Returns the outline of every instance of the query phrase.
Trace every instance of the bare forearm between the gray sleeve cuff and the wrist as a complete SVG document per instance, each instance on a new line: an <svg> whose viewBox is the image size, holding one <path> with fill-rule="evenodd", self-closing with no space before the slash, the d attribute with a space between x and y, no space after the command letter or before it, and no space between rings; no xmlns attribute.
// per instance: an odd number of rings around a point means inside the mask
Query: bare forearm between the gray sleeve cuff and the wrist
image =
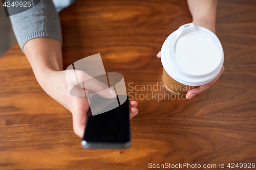
<svg viewBox="0 0 256 170"><path fill-rule="evenodd" d="M45 80L53 71L63 69L61 44L55 39L32 39L24 45L24 53L42 88L45 86Z"/></svg>

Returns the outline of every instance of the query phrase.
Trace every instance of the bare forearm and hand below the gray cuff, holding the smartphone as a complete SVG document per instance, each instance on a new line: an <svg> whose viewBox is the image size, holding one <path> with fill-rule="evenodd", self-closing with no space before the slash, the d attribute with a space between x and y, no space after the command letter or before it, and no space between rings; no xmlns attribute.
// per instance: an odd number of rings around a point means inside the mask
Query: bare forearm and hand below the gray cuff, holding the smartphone
<svg viewBox="0 0 256 170"><path fill-rule="evenodd" d="M62 52L61 44L52 38L35 38L29 40L24 45L24 53L28 58L34 71L36 80L54 100L67 108L73 115L73 130L79 137L83 136L86 126L86 118L89 110L89 102L85 96L72 96L68 89L66 71L62 67ZM76 71L77 76L88 76L83 71ZM82 79L87 80L87 79ZM76 84L77 82L74 82ZM101 89L108 89L105 84L95 81L91 85L84 83L85 89L80 87L80 90L96 92L103 98L114 98L115 92ZM110 90L110 89L109 89ZM113 95L114 94L114 95ZM139 111L136 108L136 101L130 102L130 117L134 117Z"/></svg>

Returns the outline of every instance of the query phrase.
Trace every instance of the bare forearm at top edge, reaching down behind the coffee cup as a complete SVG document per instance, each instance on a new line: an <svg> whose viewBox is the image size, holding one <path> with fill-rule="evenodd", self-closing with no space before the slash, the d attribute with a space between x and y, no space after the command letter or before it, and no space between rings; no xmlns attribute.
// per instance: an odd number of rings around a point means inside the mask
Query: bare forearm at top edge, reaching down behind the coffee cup
<svg viewBox="0 0 256 170"><path fill-rule="evenodd" d="M187 0L193 23L215 33L218 0Z"/></svg>

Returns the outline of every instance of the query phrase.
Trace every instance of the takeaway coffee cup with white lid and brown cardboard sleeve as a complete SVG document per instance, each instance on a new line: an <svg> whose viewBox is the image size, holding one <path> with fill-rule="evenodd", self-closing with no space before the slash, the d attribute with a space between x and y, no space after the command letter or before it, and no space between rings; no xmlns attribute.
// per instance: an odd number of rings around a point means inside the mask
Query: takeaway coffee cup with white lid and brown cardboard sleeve
<svg viewBox="0 0 256 170"><path fill-rule="evenodd" d="M188 23L164 41L161 62L165 87L182 94L214 80L221 71L224 52L214 33Z"/></svg>

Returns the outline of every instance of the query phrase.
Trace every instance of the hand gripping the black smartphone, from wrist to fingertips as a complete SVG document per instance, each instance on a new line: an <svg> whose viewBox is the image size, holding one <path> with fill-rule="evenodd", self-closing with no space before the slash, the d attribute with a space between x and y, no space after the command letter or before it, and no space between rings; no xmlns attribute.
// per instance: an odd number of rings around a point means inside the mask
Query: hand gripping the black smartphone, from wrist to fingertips
<svg viewBox="0 0 256 170"><path fill-rule="evenodd" d="M87 113L89 110L89 101L87 95L85 96L72 96L68 89L66 71L51 71L44 82L40 82L41 87L58 103L67 108L73 115L73 130L74 133L81 137L84 133L84 128L86 126ZM68 70L73 71L73 70ZM88 79L88 75L83 72L76 70L76 75L79 80ZM75 74L74 74L75 76ZM70 82L69 82L70 83ZM77 82L73 82L74 85ZM90 85L84 85L80 87L81 91L87 94L88 90L96 92L98 95L112 99L116 97L115 91L106 86L104 83L97 81L90 82ZM138 109L136 108L138 103L136 101L130 102L130 117L134 117L138 114Z"/></svg>

